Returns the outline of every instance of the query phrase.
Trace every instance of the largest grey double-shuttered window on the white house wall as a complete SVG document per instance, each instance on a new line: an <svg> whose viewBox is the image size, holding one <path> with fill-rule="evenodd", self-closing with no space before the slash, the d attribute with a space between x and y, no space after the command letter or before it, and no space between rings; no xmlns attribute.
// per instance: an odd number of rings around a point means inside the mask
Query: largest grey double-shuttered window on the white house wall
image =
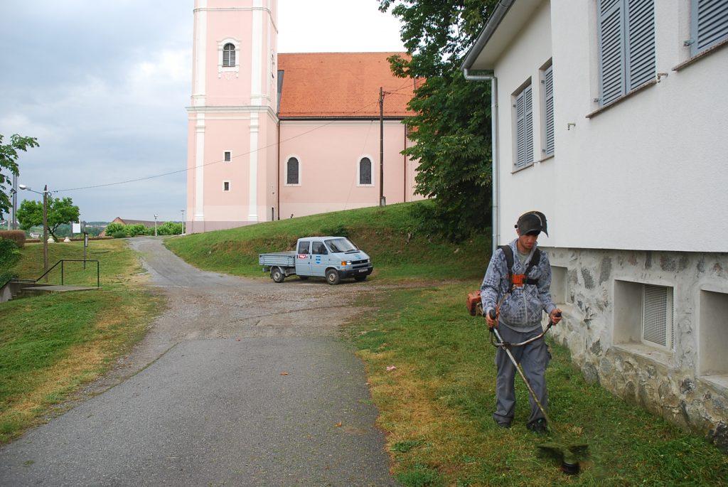
<svg viewBox="0 0 728 487"><path fill-rule="evenodd" d="M599 103L604 106L654 79L654 0L600 0Z"/></svg>

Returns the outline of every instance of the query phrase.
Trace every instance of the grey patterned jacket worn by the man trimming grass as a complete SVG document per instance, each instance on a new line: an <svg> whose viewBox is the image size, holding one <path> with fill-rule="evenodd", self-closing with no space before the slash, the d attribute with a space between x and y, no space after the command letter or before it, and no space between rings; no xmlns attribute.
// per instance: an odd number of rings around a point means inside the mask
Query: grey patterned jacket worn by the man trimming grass
<svg viewBox="0 0 728 487"><path fill-rule="evenodd" d="M526 262L521 264L516 242L518 239L508 244L513 249L513 274L523 274L531 261L533 251L531 250ZM507 294L509 282L505 253L497 249L491 257L483 284L480 285L480 301L483 303L483 313L487 313L496 309L496 305L506 296L500 305L499 325L506 325L520 332L537 330L541 328L542 312L548 314L556 308L551 301L551 264L547 253L543 250L539 253L539 263L527 276L529 279L539 280L538 285L526 284L522 288L514 288L510 294Z"/></svg>

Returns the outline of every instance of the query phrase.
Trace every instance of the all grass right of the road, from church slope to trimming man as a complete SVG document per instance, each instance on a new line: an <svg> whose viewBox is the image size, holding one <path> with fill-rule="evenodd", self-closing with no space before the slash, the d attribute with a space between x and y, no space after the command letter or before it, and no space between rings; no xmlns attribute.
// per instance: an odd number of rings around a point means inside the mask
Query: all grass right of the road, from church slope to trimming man
<svg viewBox="0 0 728 487"><path fill-rule="evenodd" d="M263 223L170 239L167 245L203 269L261 276L259 252L289 250L297 237L310 234L348 234L373 258L372 283L408 283L385 291L367 282L355 285L361 304L378 311L344 330L366 365L392 470L404 486L728 482L728 456L702 437L586 384L569 351L553 343L547 380L552 427L559 436L550 439L588 444L581 475L564 475L559 459L538 450L542 438L523 424L529 406L520 378L517 421L512 429L496 428L491 420L494 347L482 318L470 317L464 306L488 261L488 232L464 245L430 242L413 233L409 207Z"/></svg>

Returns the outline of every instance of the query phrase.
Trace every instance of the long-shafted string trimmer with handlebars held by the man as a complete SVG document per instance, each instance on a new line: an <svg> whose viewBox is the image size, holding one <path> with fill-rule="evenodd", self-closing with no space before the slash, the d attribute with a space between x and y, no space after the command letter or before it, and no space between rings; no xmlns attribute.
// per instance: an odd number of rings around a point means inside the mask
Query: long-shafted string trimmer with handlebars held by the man
<svg viewBox="0 0 728 487"><path fill-rule="evenodd" d="M496 312L493 309L490 310L490 317L493 320L496 319ZM523 373L523 369L521 369L521 364L519 364L515 360L515 357L513 357L513 353L511 353L510 351L510 349L513 347L523 347L524 345L530 344L533 341L537 341L539 338L543 338L543 336L547 333L548 330L551 329L552 326L553 321L549 320L548 325L546 325L546 328L539 335L534 336L533 338L529 338L526 341L521 341L521 343L512 344L507 341L503 341L503 338L501 338L496 325L491 328L491 344L493 344L494 347L501 347L506 352L506 354L510 358L510 361L513 362L513 365L518 371L518 375L521 376L521 379L523 379L523 382L526 384L526 388L529 389L529 394L531 395L531 397L534 398L534 401L543 413L547 424L551 425L552 431L554 432L552 440L542 445L539 445L539 448L561 459L561 470L563 470L563 472L571 475L576 475L577 473L579 473L579 460L585 459L588 446L585 443L567 444L558 440L558 438L561 438L561 435L559 435L558 432L555 432L555 430L553 429L553 422L549 418L548 413L546 412L546 408L544 408L544 406L541 404L541 401L539 401L539 398L536 396L536 392L534 392L534 389L531 388L529 379L526 379L526 375ZM494 336L496 337L497 342L493 341Z"/></svg>

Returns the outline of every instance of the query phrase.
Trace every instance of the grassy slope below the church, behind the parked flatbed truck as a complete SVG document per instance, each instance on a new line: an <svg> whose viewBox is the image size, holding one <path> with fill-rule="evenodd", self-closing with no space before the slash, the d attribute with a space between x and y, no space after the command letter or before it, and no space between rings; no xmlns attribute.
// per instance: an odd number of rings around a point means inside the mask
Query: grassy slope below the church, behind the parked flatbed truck
<svg viewBox="0 0 728 487"><path fill-rule="evenodd" d="M369 207L258 223L237 229L173 237L170 250L200 269L267 277L258 253L296 248L296 239L315 235L349 237L372 258L372 278L442 280L482 276L490 240L486 234L451 245L414 229L412 210L428 202Z"/></svg>

